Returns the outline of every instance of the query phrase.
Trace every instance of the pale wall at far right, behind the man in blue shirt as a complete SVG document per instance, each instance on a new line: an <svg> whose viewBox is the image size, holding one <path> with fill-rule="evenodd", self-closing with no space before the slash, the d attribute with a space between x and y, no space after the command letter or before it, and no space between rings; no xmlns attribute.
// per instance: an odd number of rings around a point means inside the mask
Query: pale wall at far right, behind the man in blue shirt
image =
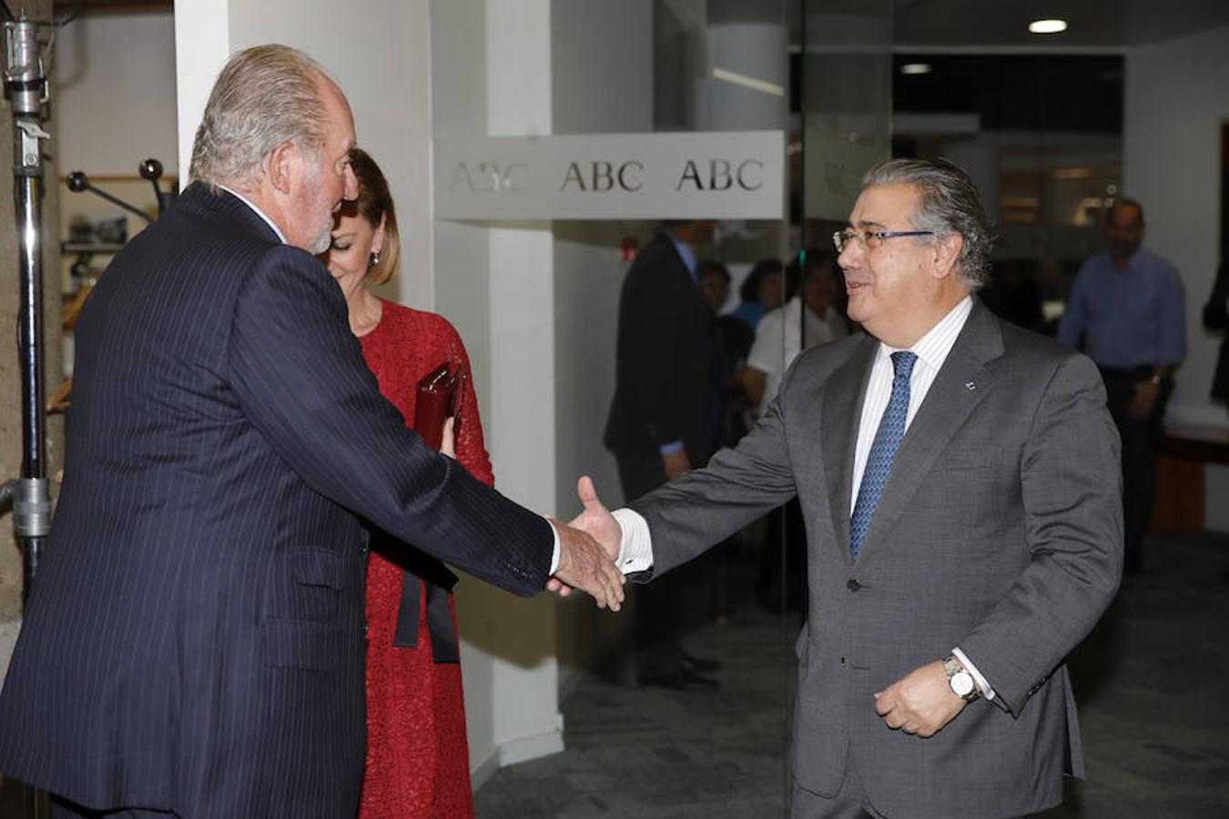
<svg viewBox="0 0 1229 819"><path fill-rule="evenodd" d="M1200 319L1220 242L1220 128L1229 120L1229 27L1127 52L1123 189L1144 206L1144 244L1186 287L1187 355L1170 420L1229 425L1208 398L1215 339Z"/></svg>

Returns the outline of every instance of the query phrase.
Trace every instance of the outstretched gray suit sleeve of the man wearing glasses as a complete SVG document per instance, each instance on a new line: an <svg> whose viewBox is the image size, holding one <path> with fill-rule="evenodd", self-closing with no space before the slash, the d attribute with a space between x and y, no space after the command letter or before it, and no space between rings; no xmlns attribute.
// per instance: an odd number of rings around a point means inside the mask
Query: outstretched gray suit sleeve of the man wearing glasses
<svg viewBox="0 0 1229 819"><path fill-rule="evenodd" d="M651 580L687 562L795 494L778 395L737 447L629 505L653 538L653 570L633 580Z"/></svg>

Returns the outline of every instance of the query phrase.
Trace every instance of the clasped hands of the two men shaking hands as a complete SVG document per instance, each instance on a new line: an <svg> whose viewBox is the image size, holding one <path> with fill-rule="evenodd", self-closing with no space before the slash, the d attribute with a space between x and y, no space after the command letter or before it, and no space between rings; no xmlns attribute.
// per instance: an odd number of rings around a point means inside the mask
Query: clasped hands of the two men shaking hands
<svg viewBox="0 0 1229 819"><path fill-rule="evenodd" d="M589 475L576 483L576 494L584 506L580 514L569 523L551 521L559 533L559 565L546 587L559 597L579 588L591 594L599 608L618 611L626 578L614 560L619 554L623 529L610 510L602 506Z"/></svg>

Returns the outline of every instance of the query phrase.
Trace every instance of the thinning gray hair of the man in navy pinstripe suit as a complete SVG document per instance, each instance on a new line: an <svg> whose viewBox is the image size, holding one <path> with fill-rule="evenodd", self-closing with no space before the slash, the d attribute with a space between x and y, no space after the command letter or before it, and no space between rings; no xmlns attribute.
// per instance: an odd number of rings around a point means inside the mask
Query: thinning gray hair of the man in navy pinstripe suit
<svg viewBox="0 0 1229 819"><path fill-rule="evenodd" d="M326 118L320 82L326 76L315 60L289 45L232 54L205 104L189 176L210 189L220 183L246 187L283 142L310 142L318 151Z"/></svg>

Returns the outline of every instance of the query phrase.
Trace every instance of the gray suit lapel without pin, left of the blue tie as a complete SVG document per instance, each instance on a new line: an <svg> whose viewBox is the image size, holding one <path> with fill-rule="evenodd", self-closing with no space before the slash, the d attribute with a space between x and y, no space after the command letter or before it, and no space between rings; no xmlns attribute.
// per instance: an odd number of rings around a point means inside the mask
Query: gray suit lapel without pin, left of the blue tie
<svg viewBox="0 0 1229 819"><path fill-rule="evenodd" d="M823 422L820 441L823 447L823 470L832 507L832 528L837 548L849 556L849 508L853 502L853 456L858 446L858 424L862 402L875 362L879 341L865 336L844 366L832 373L823 390Z"/></svg>

